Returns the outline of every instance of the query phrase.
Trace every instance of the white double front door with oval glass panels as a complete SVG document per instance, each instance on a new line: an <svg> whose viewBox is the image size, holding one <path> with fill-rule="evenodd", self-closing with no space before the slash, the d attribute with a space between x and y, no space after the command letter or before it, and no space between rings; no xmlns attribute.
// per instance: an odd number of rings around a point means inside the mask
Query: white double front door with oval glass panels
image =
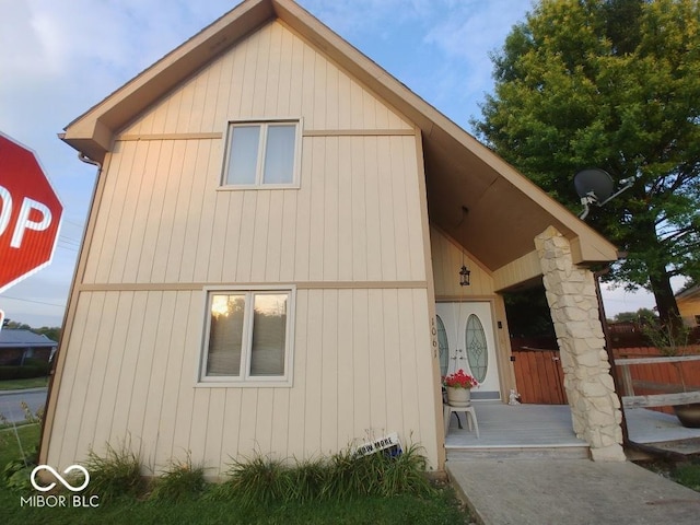
<svg viewBox="0 0 700 525"><path fill-rule="evenodd" d="M438 303L435 312L441 374L463 369L480 383L472 399L500 399L491 303Z"/></svg>

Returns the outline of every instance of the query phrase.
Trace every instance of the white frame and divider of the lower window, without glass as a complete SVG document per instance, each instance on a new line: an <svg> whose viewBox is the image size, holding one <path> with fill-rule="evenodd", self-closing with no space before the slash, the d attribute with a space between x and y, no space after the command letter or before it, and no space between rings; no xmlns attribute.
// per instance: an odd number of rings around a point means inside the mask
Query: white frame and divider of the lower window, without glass
<svg viewBox="0 0 700 525"><path fill-rule="evenodd" d="M296 311L296 287L294 284L269 284L269 285L217 285L205 287L205 330L202 334L202 342L199 350L199 365L197 366L196 387L292 387L293 386L293 365L294 365L294 319ZM273 376L250 376L248 362L250 359L249 348L241 353L241 368L246 370L245 375L240 376L207 376L207 358L209 355L209 336L211 331L211 296L215 293L233 292L233 293L255 293L255 292L280 292L289 293L289 303L287 310L287 331L284 340L284 375ZM246 302L246 314L248 304ZM253 316L244 317L246 334L250 334ZM246 340L248 338L246 337Z"/></svg>

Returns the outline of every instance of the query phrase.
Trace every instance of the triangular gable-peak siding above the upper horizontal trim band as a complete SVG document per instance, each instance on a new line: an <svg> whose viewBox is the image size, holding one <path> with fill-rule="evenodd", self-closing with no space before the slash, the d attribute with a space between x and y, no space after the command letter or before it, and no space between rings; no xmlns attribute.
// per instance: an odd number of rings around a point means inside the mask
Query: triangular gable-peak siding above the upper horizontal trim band
<svg viewBox="0 0 700 525"><path fill-rule="evenodd" d="M173 91L124 135L223 132L229 119L303 115L308 129L412 127L338 66L271 23Z"/></svg>

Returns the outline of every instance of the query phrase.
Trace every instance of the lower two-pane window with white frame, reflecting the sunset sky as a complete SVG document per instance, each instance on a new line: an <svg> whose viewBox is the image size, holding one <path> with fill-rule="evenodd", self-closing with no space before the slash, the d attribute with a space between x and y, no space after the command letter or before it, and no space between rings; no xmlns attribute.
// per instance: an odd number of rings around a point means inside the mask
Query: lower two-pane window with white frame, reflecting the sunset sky
<svg viewBox="0 0 700 525"><path fill-rule="evenodd" d="M291 386L294 289L209 290L200 384Z"/></svg>

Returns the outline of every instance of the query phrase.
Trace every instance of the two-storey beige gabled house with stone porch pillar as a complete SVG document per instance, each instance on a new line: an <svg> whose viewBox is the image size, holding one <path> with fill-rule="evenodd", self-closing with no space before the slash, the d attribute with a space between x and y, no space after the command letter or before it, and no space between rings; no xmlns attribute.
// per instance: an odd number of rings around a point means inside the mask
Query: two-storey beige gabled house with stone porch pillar
<svg viewBox="0 0 700 525"><path fill-rule="evenodd" d="M398 432L443 469L441 364L508 400L501 293L542 279L574 430L623 459L587 268L616 248L291 0L243 2L62 139L101 168L42 463L129 440L217 474Z"/></svg>

